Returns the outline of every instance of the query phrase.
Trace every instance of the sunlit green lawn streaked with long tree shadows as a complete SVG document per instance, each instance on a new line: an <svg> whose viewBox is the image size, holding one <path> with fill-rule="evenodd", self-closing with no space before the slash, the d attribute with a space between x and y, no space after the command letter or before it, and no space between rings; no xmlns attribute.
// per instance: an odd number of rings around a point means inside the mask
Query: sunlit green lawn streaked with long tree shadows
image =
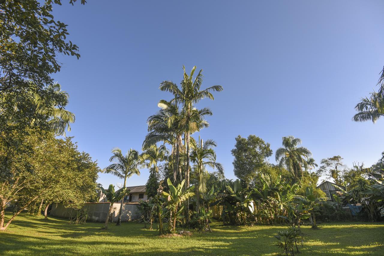
<svg viewBox="0 0 384 256"><path fill-rule="evenodd" d="M159 237L142 223L71 225L67 220L23 214L0 231L0 255L22 254L150 254L150 255L278 255L276 230L284 226L222 226L213 233ZM384 223L332 223L319 230L303 226L300 255L384 255Z"/></svg>

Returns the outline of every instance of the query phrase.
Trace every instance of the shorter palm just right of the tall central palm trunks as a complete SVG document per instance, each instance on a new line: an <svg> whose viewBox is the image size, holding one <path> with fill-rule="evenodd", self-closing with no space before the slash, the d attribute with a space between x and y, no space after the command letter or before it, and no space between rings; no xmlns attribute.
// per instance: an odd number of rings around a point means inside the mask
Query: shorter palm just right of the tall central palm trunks
<svg viewBox="0 0 384 256"><path fill-rule="evenodd" d="M221 174L224 173L222 164L216 162L216 152L213 149L217 146L214 140L200 140L196 143L194 139L191 140L190 160L195 164L197 168L197 180L198 185L196 187L196 211L200 211L200 193L204 194L207 192L207 174L205 167L217 169Z"/></svg>

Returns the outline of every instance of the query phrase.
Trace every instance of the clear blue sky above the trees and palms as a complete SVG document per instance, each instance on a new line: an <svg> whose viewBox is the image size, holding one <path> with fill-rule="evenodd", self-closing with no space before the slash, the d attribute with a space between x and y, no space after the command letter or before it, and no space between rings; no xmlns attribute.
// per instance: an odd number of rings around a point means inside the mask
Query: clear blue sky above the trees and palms
<svg viewBox="0 0 384 256"><path fill-rule="evenodd" d="M54 76L76 114L68 135L101 168L113 147L141 150L147 117L170 97L159 84L179 82L183 64L204 69L204 88L224 88L200 104L214 112L200 134L217 141L228 178L239 134L261 137L274 152L294 135L316 161L341 155L349 166L371 165L384 150L384 120L351 121L384 65L383 1L89 0L54 8L81 53L60 57ZM98 181L121 182L108 174Z"/></svg>

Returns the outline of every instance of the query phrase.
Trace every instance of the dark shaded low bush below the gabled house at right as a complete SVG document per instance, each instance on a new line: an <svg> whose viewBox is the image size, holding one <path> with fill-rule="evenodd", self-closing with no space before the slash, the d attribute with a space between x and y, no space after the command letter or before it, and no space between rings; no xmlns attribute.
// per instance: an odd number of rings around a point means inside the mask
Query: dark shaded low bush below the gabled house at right
<svg viewBox="0 0 384 256"><path fill-rule="evenodd" d="M351 215L349 213L328 203L314 206L314 214L316 220L323 222L351 220Z"/></svg>

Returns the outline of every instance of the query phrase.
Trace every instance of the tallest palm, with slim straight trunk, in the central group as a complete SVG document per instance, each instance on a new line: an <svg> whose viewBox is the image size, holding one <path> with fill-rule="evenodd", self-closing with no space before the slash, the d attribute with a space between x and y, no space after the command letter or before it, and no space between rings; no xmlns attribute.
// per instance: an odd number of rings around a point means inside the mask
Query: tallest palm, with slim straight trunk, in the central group
<svg viewBox="0 0 384 256"><path fill-rule="evenodd" d="M203 82L203 70L201 69L199 74L193 79L193 75L195 72L196 66L192 68L190 75L185 72L185 67L183 66L184 71L184 79L180 83L181 89L177 87L175 83L172 81L163 81L160 84L161 91L169 91L174 95L175 101L180 102L182 104L182 112L185 117L185 126L184 126L184 138L186 145L186 187L189 187L189 140L190 140L190 131L192 123L192 109L194 108L194 104L197 104L201 99L209 98L214 99L211 91L222 91L223 88L220 85L211 86L207 89L200 90L202 82Z"/></svg>

